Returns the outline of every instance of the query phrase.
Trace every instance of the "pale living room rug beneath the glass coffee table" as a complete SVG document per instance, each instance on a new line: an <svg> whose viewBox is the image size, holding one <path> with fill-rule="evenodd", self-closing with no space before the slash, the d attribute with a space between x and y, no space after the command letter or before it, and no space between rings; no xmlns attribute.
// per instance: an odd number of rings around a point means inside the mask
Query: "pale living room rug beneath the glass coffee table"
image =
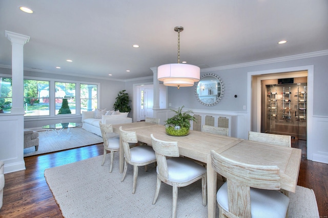
<svg viewBox="0 0 328 218"><path fill-rule="evenodd" d="M64 129L59 135L54 131L40 131L39 133L39 148L35 151L34 147L24 149L24 157L45 154L66 149L89 146L103 142L103 138L90 133L81 127L71 128L72 134L67 134L67 129Z"/></svg>

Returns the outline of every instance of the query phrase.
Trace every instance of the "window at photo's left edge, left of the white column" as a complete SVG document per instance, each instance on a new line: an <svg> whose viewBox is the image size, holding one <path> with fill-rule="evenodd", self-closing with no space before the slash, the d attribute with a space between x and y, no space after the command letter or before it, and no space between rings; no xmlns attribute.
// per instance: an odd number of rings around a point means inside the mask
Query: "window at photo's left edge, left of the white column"
<svg viewBox="0 0 328 218"><path fill-rule="evenodd" d="M0 77L0 112L10 112L12 100L11 78Z"/></svg>

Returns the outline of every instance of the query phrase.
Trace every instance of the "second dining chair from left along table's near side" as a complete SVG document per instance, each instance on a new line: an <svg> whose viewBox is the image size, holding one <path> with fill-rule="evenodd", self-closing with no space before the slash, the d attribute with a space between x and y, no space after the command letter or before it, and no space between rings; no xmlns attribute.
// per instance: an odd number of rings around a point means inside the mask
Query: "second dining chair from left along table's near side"
<svg viewBox="0 0 328 218"><path fill-rule="evenodd" d="M156 155L152 147L144 144L130 148L129 143L138 142L135 132L124 131L122 130L122 127L119 127L119 136L124 150L124 170L121 182L124 181L127 174L128 164L133 165L132 193L134 194L137 185L138 166L145 166L145 169L147 170L146 166L148 164L156 162Z"/></svg>

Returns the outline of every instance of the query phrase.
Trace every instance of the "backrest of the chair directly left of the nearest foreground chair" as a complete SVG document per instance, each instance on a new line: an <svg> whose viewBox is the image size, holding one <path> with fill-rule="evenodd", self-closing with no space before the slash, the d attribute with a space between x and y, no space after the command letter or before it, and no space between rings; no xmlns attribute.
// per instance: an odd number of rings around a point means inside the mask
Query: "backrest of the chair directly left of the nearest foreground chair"
<svg viewBox="0 0 328 218"><path fill-rule="evenodd" d="M162 178L168 179L169 172L166 157L179 157L178 142L162 141L156 139L153 134L151 134L150 136L152 138L152 146L156 154L159 175Z"/></svg>

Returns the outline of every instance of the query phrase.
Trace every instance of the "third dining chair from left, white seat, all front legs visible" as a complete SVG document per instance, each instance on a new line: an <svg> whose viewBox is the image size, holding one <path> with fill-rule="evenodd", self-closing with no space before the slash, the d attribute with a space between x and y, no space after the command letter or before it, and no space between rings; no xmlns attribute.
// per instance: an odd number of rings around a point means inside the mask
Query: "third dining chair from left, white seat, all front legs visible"
<svg viewBox="0 0 328 218"><path fill-rule="evenodd" d="M207 201L207 177L206 168L192 160L179 157L177 141L162 141L151 134L152 146L157 159L157 185L153 204L156 203L160 184L165 182L173 186L172 217L176 216L178 187L184 187L201 179L202 202L206 206ZM167 157L170 157L167 159ZM171 158L172 157L172 158Z"/></svg>

